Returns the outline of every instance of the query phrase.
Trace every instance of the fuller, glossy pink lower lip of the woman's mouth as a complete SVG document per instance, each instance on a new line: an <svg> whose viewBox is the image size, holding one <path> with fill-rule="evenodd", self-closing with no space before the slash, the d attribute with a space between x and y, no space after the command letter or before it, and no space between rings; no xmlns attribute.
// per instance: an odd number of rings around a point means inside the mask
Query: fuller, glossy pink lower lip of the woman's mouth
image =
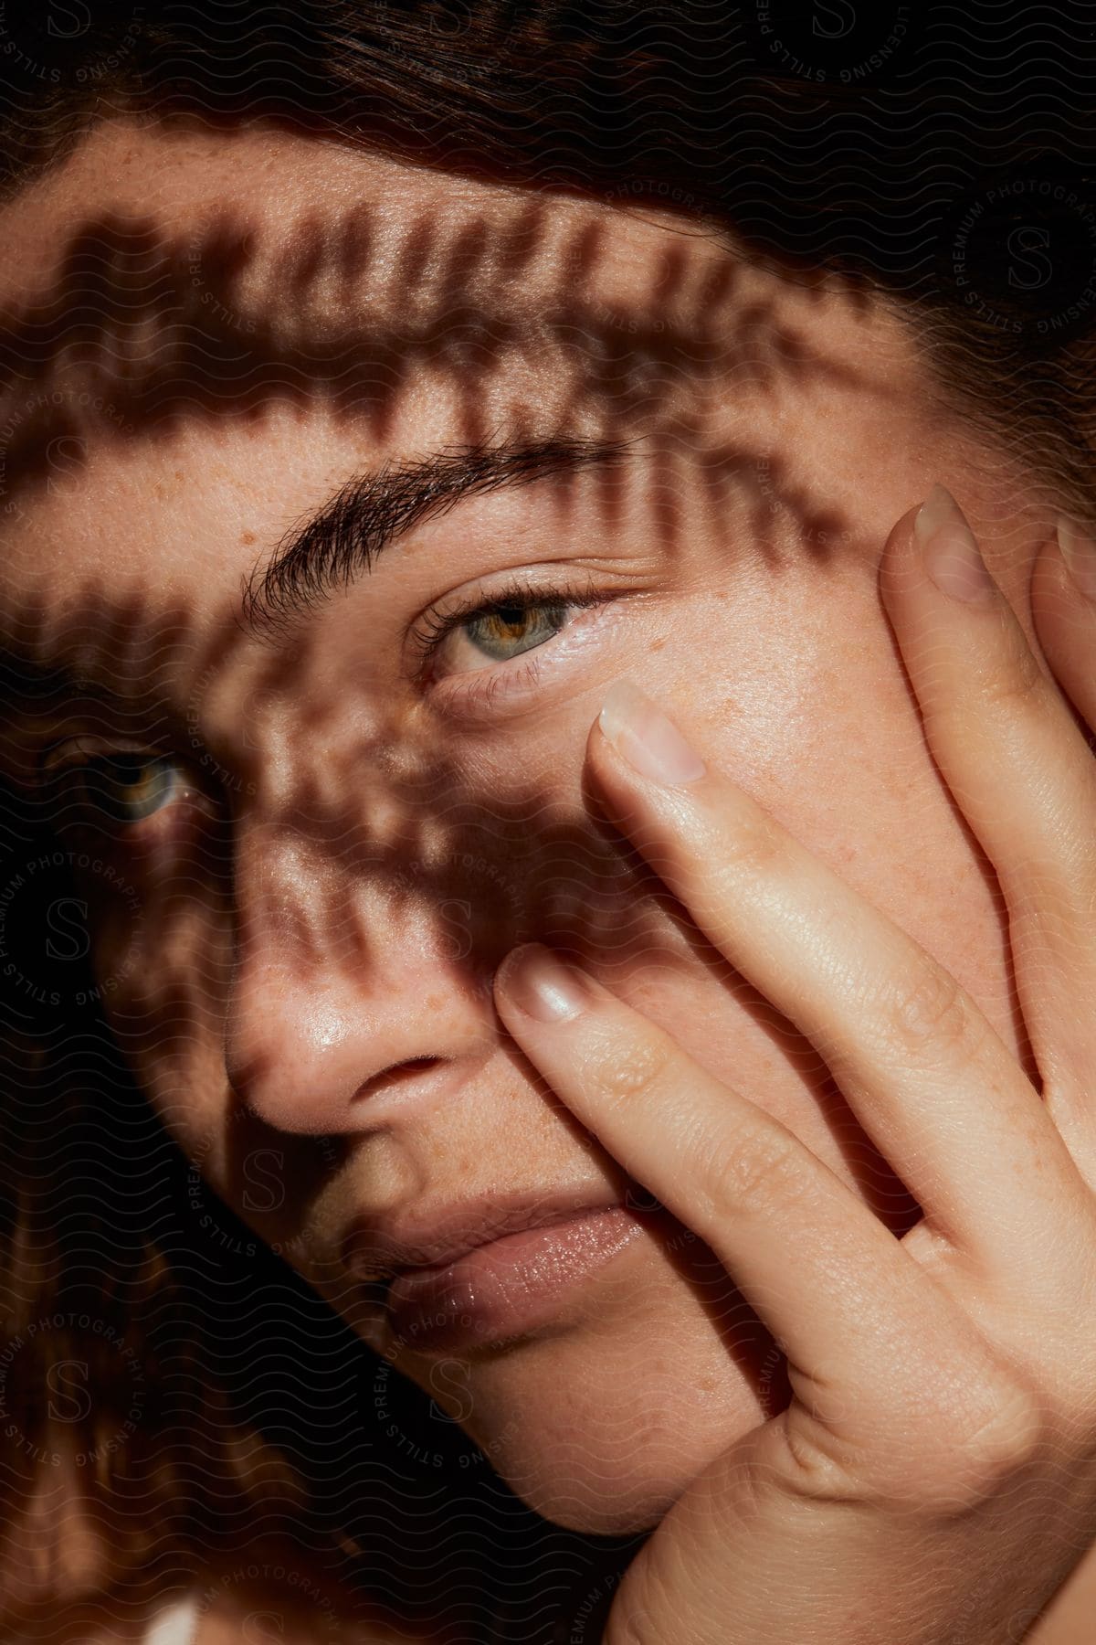
<svg viewBox="0 0 1096 1645"><path fill-rule="evenodd" d="M506 1234L449 1263L404 1268L388 1291L393 1336L424 1352L524 1336L552 1323L565 1293L639 1232L633 1211L611 1206Z"/></svg>

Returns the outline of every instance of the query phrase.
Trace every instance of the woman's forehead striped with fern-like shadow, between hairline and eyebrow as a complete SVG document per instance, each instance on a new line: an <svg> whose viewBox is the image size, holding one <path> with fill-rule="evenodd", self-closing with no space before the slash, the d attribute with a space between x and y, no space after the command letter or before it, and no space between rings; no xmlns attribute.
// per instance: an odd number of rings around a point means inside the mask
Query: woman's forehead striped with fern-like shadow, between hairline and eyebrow
<svg viewBox="0 0 1096 1645"><path fill-rule="evenodd" d="M355 467L524 426L733 470L815 365L896 382L884 316L697 224L284 130L104 123L3 217L0 599L223 604Z"/></svg>

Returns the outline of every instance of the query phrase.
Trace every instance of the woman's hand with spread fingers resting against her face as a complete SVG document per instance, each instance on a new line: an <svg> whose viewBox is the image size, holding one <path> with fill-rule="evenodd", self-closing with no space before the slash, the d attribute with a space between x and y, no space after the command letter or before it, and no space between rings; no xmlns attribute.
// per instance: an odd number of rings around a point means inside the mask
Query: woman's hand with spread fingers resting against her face
<svg viewBox="0 0 1096 1645"><path fill-rule="evenodd" d="M897 523L879 589L1007 905L1042 1091L946 969L615 689L588 740L603 804L827 1059L923 1217L896 1239L777 1119L537 944L500 969L527 1058L787 1355L790 1403L677 1500L610 1642L846 1645L850 1617L891 1645L1020 1638L1096 1533L1096 765L946 492ZM1096 727L1096 604L1053 546L1032 605Z"/></svg>

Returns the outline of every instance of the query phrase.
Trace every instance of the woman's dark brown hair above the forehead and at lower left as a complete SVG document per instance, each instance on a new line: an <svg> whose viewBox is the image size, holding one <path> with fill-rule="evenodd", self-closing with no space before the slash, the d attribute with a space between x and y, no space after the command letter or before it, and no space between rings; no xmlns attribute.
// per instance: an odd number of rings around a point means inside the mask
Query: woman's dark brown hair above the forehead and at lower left
<svg viewBox="0 0 1096 1645"><path fill-rule="evenodd" d="M886 293L942 388L1006 434L1078 512L1091 510L1096 58L1073 38L1081 28L1068 5L1050 16L1042 5L997 0L873 0L859 12L830 0L812 31L779 0L112 0L95 3L94 16L84 5L66 10L79 25L66 33L49 28L49 8L8 0L0 189L10 197L26 188L94 122L123 114L214 127L288 122L416 164L677 211L792 276L831 268ZM35 850L31 824L15 837L8 865ZM69 1013L64 1036L79 1038L89 1022ZM104 1114L95 1058L82 1084L72 1079L56 1031L48 1008L35 1015L20 1003L13 1041L25 1056L0 1206L8 1332L23 1336L20 1352L39 1355L44 1334L35 1341L31 1326L64 1316L51 1362L85 1357L92 1341L104 1387L120 1364L104 1349L105 1332L140 1337L159 1416L140 1441L145 1472L131 1472L136 1508L118 1517L113 1453L81 1484L110 1497L117 1535L141 1563L181 1490L210 1500L235 1477L240 1492L258 1495L279 1464L258 1439L240 1438L246 1431L219 1403L200 1357L179 1357L181 1334L197 1334L200 1321L177 1263L161 1253L156 1216L120 1235L112 1216L122 1199L92 1214L72 1198ZM133 1140L133 1112L122 1105L112 1135ZM141 1147L159 1147L141 1135ZM123 1175L110 1178L118 1194ZM56 1227L59 1206L71 1212L67 1232ZM84 1316L105 1321L102 1332L89 1337ZM164 1339L174 1344L174 1387L189 1390L173 1411L156 1347ZM25 1379L39 1383L41 1365L30 1364ZM7 1387L15 1398L15 1380ZM100 1402L82 1453L95 1454L122 1421ZM54 1449L41 1413L35 1423L28 1459ZM187 1425L209 1464L204 1479L187 1479L150 1438ZM30 1474L28 1461L28 1489ZM296 1500L292 1482L284 1500ZM197 1546L214 1520L194 1513L192 1525L177 1513L174 1525ZM21 1546L13 1530L12 1566Z"/></svg>

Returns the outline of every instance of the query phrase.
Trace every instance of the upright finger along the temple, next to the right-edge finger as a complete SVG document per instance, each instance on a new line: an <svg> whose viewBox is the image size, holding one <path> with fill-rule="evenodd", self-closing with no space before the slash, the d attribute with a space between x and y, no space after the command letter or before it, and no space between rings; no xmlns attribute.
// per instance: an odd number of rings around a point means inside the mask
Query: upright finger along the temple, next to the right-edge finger
<svg viewBox="0 0 1096 1645"><path fill-rule="evenodd" d="M976 597L923 576L909 517L879 587L933 757L1001 882L1024 1023L1043 1082L1058 1086L1096 1054L1096 762L943 487L919 521L928 563L965 564Z"/></svg>

